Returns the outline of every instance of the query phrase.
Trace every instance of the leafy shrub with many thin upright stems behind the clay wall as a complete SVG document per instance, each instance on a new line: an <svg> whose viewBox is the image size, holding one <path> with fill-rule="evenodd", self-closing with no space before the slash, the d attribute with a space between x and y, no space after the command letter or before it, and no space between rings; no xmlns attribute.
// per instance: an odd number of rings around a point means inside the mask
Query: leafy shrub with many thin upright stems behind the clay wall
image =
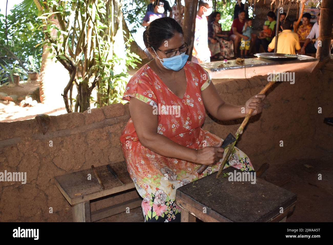
<svg viewBox="0 0 333 245"><path fill-rule="evenodd" d="M70 73L63 98L67 112L90 107L97 86L98 104L113 101L117 82L126 77L126 51L122 27L122 0L46 0L39 2L47 49ZM121 35L120 35L121 34ZM117 46L116 46L117 45ZM133 56L134 57L134 56ZM72 98L72 87L78 95ZM121 86L120 86L121 87ZM68 98L68 92L69 98Z"/></svg>

